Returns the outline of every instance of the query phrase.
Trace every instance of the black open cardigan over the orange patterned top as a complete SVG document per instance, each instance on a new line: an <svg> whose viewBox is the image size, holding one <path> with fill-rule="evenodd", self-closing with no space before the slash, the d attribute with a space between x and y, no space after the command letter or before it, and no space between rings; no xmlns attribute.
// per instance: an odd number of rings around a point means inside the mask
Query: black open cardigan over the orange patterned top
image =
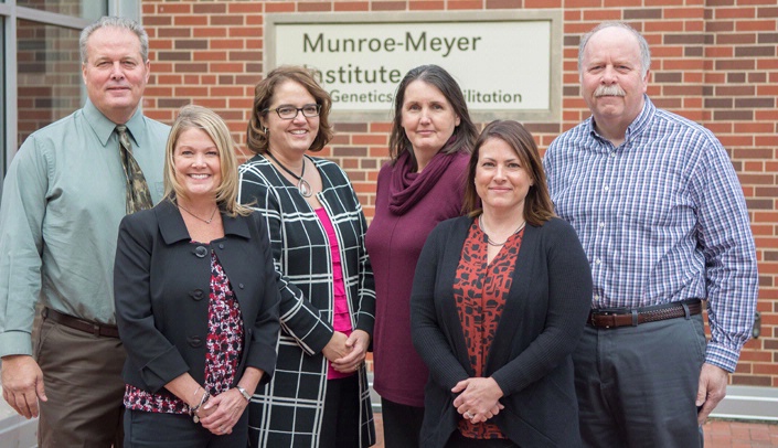
<svg viewBox="0 0 778 448"><path fill-rule="evenodd" d="M462 417L451 388L475 376L452 292L471 223L462 216L438 224L416 265L411 332L429 367L424 447L443 447L457 430ZM580 446L571 354L590 303L589 264L573 227L559 218L537 227L527 224L483 373L504 394L500 403L505 408L493 422L515 444Z"/></svg>

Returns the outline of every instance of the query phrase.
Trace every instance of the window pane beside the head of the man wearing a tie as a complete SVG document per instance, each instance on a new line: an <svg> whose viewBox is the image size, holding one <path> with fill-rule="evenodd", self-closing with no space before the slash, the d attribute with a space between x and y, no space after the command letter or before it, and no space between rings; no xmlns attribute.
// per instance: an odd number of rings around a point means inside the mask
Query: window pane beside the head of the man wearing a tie
<svg viewBox="0 0 778 448"><path fill-rule="evenodd" d="M18 143L82 106L81 31L18 21Z"/></svg>

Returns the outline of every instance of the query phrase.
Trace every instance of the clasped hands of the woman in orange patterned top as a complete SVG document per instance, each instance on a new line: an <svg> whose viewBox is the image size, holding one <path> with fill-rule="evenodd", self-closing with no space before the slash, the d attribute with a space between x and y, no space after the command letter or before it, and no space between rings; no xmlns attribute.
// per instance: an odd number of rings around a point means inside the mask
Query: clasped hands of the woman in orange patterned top
<svg viewBox="0 0 778 448"><path fill-rule="evenodd" d="M451 392L459 393L454 399L454 407L473 424L492 418L505 407L499 402L503 395L502 390L491 377L462 380Z"/></svg>

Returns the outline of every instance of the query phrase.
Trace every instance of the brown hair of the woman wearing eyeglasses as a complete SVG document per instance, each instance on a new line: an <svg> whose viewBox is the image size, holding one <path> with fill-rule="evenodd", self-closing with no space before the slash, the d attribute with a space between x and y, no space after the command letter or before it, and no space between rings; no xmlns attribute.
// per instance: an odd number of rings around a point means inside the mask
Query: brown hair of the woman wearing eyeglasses
<svg viewBox="0 0 778 448"><path fill-rule="evenodd" d="M262 125L262 117L269 111L267 108L270 107L270 103L273 103L276 87L287 81L294 81L300 84L311 94L316 104L321 106L321 111L319 113L319 131L308 150L315 152L321 151L332 139L332 126L328 118L330 108L332 107L330 94L316 82L313 73L310 70L299 65L281 65L268 73L267 77L260 81L254 88L254 106L252 109L252 118L248 120L246 146L258 154L267 152L268 147L267 131Z"/></svg>

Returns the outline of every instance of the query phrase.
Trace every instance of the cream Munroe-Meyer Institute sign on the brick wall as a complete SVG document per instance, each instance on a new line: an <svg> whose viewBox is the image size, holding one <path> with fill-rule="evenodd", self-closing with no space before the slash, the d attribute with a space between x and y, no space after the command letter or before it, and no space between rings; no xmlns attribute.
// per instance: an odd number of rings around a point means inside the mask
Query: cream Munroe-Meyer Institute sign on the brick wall
<svg viewBox="0 0 778 448"><path fill-rule="evenodd" d="M339 119L364 121L366 114L385 120L399 81L423 64L446 68L480 119L558 119L558 14L297 13L266 20L265 70L312 68Z"/></svg>

